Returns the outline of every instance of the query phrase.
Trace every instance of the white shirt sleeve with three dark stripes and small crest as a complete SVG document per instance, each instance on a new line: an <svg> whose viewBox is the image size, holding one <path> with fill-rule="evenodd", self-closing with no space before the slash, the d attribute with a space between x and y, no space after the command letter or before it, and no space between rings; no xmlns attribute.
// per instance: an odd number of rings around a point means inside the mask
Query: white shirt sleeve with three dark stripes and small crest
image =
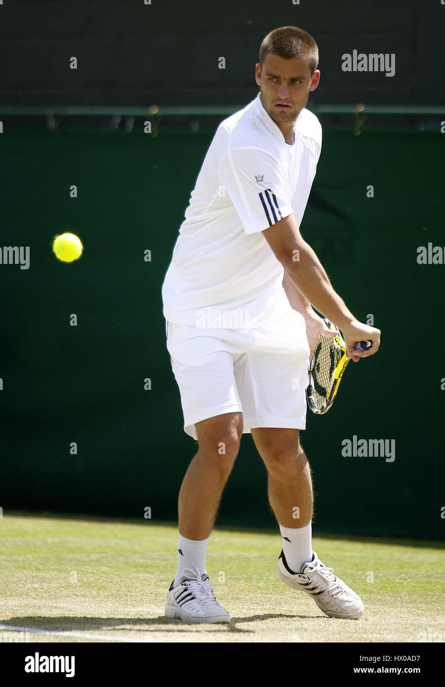
<svg viewBox="0 0 445 687"><path fill-rule="evenodd" d="M246 234L263 232L292 214L280 164L265 150L228 150L219 163L218 175Z"/></svg>

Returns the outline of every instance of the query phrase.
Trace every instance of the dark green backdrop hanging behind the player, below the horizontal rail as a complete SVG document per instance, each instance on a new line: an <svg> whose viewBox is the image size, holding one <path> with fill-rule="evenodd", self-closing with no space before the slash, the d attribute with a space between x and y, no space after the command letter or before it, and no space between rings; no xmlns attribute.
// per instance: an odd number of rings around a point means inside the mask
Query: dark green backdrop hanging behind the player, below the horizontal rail
<svg viewBox="0 0 445 687"><path fill-rule="evenodd" d="M30 247L29 269L0 265L3 509L144 517L149 506L152 521L177 518L196 446L183 431L161 285L212 136L1 135L1 247ZM336 405L302 433L314 532L442 535L445 266L416 258L421 245L445 245L443 141L324 132L301 231L353 313L373 315L382 344L350 363ZM69 229L85 249L62 264L50 243ZM395 460L345 458L354 435L394 439ZM274 524L248 435L218 522Z"/></svg>

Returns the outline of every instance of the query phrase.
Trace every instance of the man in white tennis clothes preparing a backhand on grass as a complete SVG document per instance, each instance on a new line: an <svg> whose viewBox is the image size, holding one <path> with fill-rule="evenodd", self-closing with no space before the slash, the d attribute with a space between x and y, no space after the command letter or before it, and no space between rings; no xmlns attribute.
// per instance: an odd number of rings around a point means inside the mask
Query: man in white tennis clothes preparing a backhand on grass
<svg viewBox="0 0 445 687"><path fill-rule="evenodd" d="M279 576L327 616L363 613L360 597L312 550L312 481L299 440L308 362L318 335L331 335L312 306L343 331L354 361L380 344L380 331L350 313L299 232L321 153L321 125L305 109L317 66L317 45L303 30L282 27L264 38L260 92L219 124L162 286L184 430L199 447L180 490L168 618L230 621L205 559L243 432L268 469L283 539ZM371 348L354 350L363 339Z"/></svg>

